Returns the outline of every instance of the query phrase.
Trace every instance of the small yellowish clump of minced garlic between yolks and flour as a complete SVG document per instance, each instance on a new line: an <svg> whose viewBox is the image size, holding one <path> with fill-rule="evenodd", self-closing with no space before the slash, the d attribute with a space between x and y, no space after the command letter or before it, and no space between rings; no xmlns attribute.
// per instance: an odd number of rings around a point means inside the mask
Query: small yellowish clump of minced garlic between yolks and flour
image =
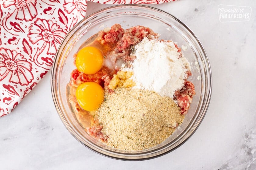
<svg viewBox="0 0 256 170"><path fill-rule="evenodd" d="M135 83L130 77L132 77L132 71L118 71L113 75L108 87L109 89L115 89L116 87L133 87Z"/></svg>

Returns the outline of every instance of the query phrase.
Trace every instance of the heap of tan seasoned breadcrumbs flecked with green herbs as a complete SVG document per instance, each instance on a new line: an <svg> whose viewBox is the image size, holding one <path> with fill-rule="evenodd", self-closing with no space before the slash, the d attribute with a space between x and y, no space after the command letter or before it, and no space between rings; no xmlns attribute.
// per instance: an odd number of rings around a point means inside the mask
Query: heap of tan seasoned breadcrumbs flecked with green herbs
<svg viewBox="0 0 256 170"><path fill-rule="evenodd" d="M105 94L95 118L109 137L107 145L142 150L162 143L184 116L170 97L149 90L116 88L114 93Z"/></svg>

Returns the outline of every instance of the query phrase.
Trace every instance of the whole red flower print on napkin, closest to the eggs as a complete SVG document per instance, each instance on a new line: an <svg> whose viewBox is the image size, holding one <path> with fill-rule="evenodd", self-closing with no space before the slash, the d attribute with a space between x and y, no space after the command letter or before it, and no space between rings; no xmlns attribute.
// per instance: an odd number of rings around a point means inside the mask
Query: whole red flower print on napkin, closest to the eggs
<svg viewBox="0 0 256 170"><path fill-rule="evenodd" d="M29 27L29 41L32 44L43 44L47 49L47 54L55 55L62 39L66 33L56 23L51 20L38 18L34 24Z"/></svg>

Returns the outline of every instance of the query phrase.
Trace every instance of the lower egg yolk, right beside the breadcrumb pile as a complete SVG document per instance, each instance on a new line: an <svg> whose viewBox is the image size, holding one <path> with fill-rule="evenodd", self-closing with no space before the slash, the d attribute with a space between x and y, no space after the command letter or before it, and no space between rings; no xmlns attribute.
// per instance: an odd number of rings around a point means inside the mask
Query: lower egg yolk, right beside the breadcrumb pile
<svg viewBox="0 0 256 170"><path fill-rule="evenodd" d="M76 99L84 110L93 111L103 102L104 90L98 83L85 82L77 87Z"/></svg>

